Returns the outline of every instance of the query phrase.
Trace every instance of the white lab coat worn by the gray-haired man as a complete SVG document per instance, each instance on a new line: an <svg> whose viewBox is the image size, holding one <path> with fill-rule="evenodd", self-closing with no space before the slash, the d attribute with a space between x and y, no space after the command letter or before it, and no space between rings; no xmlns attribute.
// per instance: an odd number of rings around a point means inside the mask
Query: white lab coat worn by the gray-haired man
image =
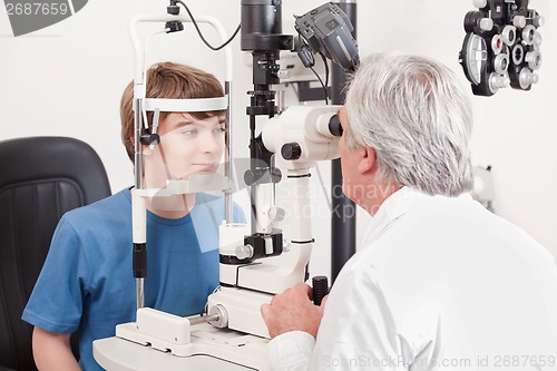
<svg viewBox="0 0 557 371"><path fill-rule="evenodd" d="M271 341L273 370L557 370L557 269L470 195L409 187L381 205L315 341Z"/></svg>

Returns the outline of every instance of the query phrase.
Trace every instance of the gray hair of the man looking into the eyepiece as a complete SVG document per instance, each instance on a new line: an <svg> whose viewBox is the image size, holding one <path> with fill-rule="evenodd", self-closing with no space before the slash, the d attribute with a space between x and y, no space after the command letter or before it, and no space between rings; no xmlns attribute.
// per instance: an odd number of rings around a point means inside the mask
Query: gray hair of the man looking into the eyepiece
<svg viewBox="0 0 557 371"><path fill-rule="evenodd" d="M375 53L348 89L346 148L374 148L380 182L431 195L471 191L471 104L449 68L419 56Z"/></svg>

